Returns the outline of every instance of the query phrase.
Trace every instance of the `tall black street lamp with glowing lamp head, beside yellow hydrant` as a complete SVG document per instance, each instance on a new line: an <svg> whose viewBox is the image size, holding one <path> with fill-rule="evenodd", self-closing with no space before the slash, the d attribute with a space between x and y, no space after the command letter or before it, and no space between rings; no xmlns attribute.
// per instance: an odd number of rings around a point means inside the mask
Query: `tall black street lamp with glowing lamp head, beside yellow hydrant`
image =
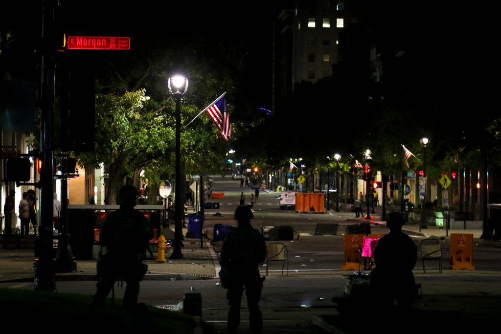
<svg viewBox="0 0 501 334"><path fill-rule="evenodd" d="M177 75L169 78L169 92L176 101L176 184L175 184L175 213L174 213L174 250L170 255L172 259L183 258L181 252L182 224L184 220L184 206L182 202L183 180L181 178L181 98L188 90L188 79ZM174 89L173 89L174 88Z"/></svg>

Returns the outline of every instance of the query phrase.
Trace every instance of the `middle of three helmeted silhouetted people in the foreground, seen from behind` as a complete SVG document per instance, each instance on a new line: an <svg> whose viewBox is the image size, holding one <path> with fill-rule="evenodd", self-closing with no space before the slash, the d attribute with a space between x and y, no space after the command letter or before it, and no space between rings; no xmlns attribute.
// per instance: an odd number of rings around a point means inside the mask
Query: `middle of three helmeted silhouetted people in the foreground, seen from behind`
<svg viewBox="0 0 501 334"><path fill-rule="evenodd" d="M263 317L259 300L265 277L260 276L258 265L266 259L266 243L260 231L250 225L254 218L247 206L238 206L234 213L237 227L228 232L221 250L221 284L226 287L228 299L228 332L236 333L240 324L240 303L243 289L247 296L250 330L260 333Z"/></svg>

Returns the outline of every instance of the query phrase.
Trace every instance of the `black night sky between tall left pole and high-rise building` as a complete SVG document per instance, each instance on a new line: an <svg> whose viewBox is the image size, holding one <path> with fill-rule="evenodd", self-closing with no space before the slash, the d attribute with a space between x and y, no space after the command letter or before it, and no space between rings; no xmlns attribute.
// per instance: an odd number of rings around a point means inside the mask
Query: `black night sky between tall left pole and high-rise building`
<svg viewBox="0 0 501 334"><path fill-rule="evenodd" d="M132 48L139 39L173 42L243 44L248 50L242 80L266 81L267 94L258 104L271 107L272 2L172 2L150 1L125 5L118 1L65 1L65 27L75 34L130 36ZM201 42L202 41L202 42Z"/></svg>

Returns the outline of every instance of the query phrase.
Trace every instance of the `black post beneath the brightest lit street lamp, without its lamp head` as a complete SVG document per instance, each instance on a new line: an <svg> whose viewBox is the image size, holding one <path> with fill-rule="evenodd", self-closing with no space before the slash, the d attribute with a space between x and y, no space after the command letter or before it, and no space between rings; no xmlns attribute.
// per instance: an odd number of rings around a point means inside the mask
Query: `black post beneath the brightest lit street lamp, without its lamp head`
<svg viewBox="0 0 501 334"><path fill-rule="evenodd" d="M174 195L175 212L174 212L174 249L170 258L180 259L183 258L181 252L181 239L182 239L182 224L184 219L184 206L182 199L183 180L181 177L181 94L175 94L176 100L176 193Z"/></svg>

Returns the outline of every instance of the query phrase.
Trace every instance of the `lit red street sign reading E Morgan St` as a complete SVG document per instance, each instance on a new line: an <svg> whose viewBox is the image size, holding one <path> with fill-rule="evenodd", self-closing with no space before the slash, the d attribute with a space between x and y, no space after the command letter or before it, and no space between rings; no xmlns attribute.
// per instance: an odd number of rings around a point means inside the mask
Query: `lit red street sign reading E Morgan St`
<svg viewBox="0 0 501 334"><path fill-rule="evenodd" d="M130 50L129 37L68 36L68 50Z"/></svg>

